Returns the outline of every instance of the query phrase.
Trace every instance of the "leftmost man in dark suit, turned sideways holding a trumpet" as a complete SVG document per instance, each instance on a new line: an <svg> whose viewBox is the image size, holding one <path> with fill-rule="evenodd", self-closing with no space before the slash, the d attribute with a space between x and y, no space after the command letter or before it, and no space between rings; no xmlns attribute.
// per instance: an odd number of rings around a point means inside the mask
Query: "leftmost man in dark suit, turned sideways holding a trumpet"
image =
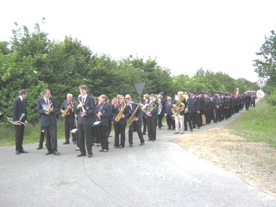
<svg viewBox="0 0 276 207"><path fill-rule="evenodd" d="M27 126L27 110L26 110L26 100L27 90L21 89L19 91L19 97L14 100L12 106L12 121L15 126L15 154L28 153L23 149L23 136L25 126Z"/></svg>

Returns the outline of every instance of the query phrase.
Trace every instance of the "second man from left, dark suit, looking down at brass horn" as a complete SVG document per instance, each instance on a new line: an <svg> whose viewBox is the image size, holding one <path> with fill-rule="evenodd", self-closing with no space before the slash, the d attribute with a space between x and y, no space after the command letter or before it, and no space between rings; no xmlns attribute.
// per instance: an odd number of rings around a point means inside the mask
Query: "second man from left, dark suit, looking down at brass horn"
<svg viewBox="0 0 276 207"><path fill-rule="evenodd" d="M57 151L57 117L55 115L58 111L56 99L51 97L49 89L44 89L43 97L37 100L37 113L46 136L48 149L46 155L59 155Z"/></svg>

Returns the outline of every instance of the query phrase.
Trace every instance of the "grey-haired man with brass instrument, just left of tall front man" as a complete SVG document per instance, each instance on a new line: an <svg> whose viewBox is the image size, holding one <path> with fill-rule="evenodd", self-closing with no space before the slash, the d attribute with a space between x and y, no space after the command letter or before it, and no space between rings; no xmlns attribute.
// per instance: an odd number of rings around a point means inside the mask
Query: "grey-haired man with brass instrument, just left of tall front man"
<svg viewBox="0 0 276 207"><path fill-rule="evenodd" d="M65 129L65 139L63 144L70 143L70 131L74 129L75 123L75 106L76 101L72 99L72 94L67 95L67 99L63 101L60 108L61 116L64 117L64 129ZM72 133L72 142L77 144L76 133Z"/></svg>

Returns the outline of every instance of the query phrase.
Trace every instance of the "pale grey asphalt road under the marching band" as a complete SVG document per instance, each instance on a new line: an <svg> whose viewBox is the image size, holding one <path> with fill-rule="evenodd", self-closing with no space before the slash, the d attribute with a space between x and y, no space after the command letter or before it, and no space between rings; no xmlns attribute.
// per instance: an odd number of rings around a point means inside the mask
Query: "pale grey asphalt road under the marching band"
<svg viewBox="0 0 276 207"><path fill-rule="evenodd" d="M21 155L14 146L1 147L0 205L276 206L275 197L172 142L188 133L173 135L164 126L157 129L157 141L139 146L135 132L133 147L122 149L113 148L112 133L110 150L94 146L92 158L77 157L76 146L64 140L58 141L59 156L45 155L37 143L23 145L29 153Z"/></svg>

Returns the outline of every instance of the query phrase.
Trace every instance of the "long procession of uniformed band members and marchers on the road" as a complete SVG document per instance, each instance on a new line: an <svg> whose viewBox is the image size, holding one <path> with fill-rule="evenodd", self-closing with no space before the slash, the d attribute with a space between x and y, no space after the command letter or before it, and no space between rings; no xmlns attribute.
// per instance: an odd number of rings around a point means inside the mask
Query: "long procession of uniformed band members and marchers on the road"
<svg viewBox="0 0 276 207"><path fill-rule="evenodd" d="M61 112L64 119L65 142L77 145L77 157L92 157L92 146L101 147L100 152L108 152L108 137L112 126L115 132L114 148L124 148L126 145L126 126L128 126L128 146L133 146L133 132L137 132L139 146L145 144L144 135L148 132L148 141L157 139L157 129L164 125L162 120L166 116L167 130L174 134L193 132L206 124L217 123L230 118L235 113L255 106L255 95L245 93L234 95L224 92L175 92L164 96L158 94L144 94L144 101L132 100L130 95L117 95L110 99L106 95L92 97L87 94L85 85L79 86L80 95L73 99L67 94L61 107L57 106L55 97L49 89L43 90L43 97L37 100L37 114L39 115L41 132L37 150L43 148L46 137L46 155L59 155L57 150L57 112ZM27 126L26 111L27 90L22 89L19 97L14 100L12 108L12 122L15 126L16 154L28 153L23 149L23 133ZM142 127L143 125L143 127Z"/></svg>

